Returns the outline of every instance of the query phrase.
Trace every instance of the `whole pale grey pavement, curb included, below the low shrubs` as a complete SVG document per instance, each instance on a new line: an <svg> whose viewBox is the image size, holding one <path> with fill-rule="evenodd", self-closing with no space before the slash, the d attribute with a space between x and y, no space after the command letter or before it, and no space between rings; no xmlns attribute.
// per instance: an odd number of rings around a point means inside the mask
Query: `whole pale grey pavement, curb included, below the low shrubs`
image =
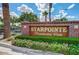
<svg viewBox="0 0 79 59"><path fill-rule="evenodd" d="M17 47L0 41L0 50L1 49L3 50L3 52L6 52L12 55L63 55L59 53L52 53L47 51Z"/></svg>

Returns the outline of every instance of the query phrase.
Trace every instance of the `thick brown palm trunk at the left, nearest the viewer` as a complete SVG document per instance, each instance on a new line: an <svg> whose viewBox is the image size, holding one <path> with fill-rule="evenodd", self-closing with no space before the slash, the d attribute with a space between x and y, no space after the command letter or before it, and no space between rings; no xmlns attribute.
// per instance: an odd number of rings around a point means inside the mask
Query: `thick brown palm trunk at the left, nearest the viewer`
<svg viewBox="0 0 79 59"><path fill-rule="evenodd" d="M4 38L11 36L10 34L10 15L9 15L9 4L2 3L3 9L3 23L4 23Z"/></svg>

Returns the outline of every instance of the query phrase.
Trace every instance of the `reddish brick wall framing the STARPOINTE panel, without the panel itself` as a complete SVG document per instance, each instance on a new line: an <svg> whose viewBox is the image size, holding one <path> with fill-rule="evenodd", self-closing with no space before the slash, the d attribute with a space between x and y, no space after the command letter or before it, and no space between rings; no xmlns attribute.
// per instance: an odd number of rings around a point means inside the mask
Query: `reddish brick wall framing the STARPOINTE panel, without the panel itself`
<svg viewBox="0 0 79 59"><path fill-rule="evenodd" d="M67 36L68 37L79 37L79 21L69 21L69 22L23 22L21 32L24 35L31 35L30 27L68 27Z"/></svg>

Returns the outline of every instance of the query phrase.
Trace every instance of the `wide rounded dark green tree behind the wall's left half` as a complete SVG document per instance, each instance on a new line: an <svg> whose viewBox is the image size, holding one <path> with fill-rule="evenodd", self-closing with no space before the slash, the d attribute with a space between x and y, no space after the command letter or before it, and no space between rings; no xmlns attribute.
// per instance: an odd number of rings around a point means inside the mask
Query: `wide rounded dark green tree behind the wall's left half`
<svg viewBox="0 0 79 59"><path fill-rule="evenodd" d="M38 20L37 15L35 15L34 13L30 12L26 12L26 13L22 13L19 17L19 22L21 21L29 21L29 22L36 22Z"/></svg>

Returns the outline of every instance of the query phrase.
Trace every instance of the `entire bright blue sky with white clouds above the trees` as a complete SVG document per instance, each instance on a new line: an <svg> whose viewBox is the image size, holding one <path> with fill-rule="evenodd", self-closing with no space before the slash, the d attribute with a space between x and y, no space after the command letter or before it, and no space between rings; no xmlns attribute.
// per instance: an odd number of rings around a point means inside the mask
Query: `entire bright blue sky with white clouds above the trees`
<svg viewBox="0 0 79 59"><path fill-rule="evenodd" d="M33 12L40 21L44 21L43 12L48 11L46 3L9 3L11 16L19 17L22 12ZM79 3L52 3L52 20L61 17L68 18L69 21L79 20ZM2 6L0 4L0 16L2 17Z"/></svg>

